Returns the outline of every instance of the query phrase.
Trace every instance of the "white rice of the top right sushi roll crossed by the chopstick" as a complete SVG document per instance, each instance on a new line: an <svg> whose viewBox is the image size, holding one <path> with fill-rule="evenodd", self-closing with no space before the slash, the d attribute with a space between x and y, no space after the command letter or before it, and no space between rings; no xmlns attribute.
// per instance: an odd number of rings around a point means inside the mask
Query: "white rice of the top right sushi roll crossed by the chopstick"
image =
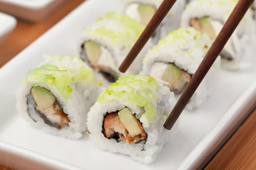
<svg viewBox="0 0 256 170"><path fill-rule="evenodd" d="M238 1L233 0L193 0L185 8L181 16L181 27L189 27L190 20L209 17L224 24ZM223 69L237 70L250 66L254 58L256 43L256 24L249 9L234 33L230 37L235 51L233 61L222 60ZM219 33L219 31L217 31Z"/></svg>

